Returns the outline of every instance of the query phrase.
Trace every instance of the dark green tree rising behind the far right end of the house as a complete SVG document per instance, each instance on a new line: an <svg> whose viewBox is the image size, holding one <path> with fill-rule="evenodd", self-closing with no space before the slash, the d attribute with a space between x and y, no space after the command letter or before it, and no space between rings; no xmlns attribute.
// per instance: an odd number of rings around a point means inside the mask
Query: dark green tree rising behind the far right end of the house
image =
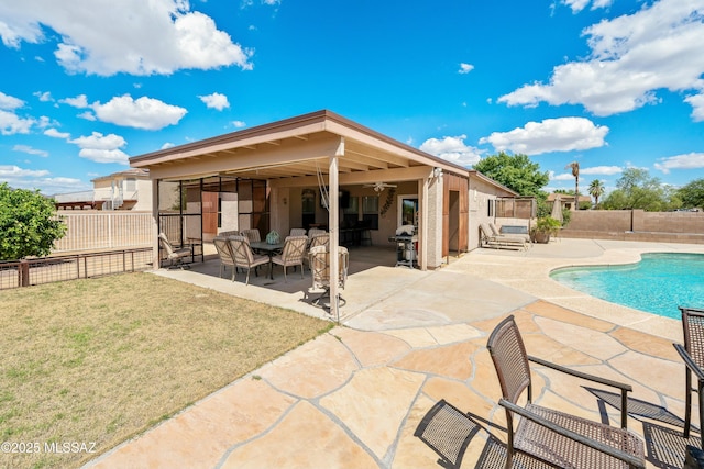
<svg viewBox="0 0 704 469"><path fill-rule="evenodd" d="M527 155L487 156L474 165L474 169L494 179L520 196L535 196L539 200L546 198L541 190L550 180L548 171L540 171L540 165L532 163Z"/></svg>

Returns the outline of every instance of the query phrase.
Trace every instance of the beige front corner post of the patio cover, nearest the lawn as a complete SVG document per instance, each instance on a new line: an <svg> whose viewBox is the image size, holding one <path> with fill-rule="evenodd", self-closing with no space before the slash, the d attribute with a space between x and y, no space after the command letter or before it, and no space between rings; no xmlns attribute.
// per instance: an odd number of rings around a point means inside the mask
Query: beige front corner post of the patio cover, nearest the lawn
<svg viewBox="0 0 704 469"><path fill-rule="evenodd" d="M340 137L340 144L333 156L330 157L330 190L328 192L328 226L330 231L330 313L340 322L340 177L338 174L338 158L344 155L344 137Z"/></svg>

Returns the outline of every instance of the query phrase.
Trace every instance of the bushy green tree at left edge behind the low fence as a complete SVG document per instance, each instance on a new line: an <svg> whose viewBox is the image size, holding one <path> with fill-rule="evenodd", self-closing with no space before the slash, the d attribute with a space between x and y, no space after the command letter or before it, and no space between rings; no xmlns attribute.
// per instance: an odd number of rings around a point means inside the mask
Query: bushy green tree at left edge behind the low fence
<svg viewBox="0 0 704 469"><path fill-rule="evenodd" d="M0 183L0 260L46 256L66 233L53 199Z"/></svg>

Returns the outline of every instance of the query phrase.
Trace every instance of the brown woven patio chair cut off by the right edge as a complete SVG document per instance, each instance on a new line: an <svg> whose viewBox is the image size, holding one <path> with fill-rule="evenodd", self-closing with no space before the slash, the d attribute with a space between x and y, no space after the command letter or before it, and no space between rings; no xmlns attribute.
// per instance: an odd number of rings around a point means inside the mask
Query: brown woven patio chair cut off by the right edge
<svg viewBox="0 0 704 469"><path fill-rule="evenodd" d="M684 404L684 437L690 437L692 426L692 373L696 376L696 391L700 398L700 427L704 422L704 310L680 306L682 312L682 330L684 346L672 344L684 361L685 372L685 404ZM701 431L700 431L701 432ZM704 448L704 438L702 438Z"/></svg>

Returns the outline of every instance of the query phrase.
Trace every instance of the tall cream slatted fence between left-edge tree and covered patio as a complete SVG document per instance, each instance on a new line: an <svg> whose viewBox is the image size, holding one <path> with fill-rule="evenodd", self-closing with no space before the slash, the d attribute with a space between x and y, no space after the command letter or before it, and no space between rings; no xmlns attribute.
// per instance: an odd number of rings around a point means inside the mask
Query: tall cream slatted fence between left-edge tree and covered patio
<svg viewBox="0 0 704 469"><path fill-rule="evenodd" d="M66 236L53 253L151 247L152 214L148 212L59 212Z"/></svg>

